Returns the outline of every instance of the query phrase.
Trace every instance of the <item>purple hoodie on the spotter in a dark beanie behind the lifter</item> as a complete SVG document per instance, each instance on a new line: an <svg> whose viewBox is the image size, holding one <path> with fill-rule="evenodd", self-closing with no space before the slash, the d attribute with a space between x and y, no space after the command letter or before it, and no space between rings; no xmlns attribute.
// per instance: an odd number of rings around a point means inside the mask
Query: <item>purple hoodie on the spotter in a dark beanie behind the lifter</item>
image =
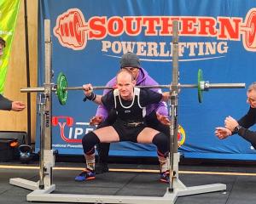
<svg viewBox="0 0 256 204"><path fill-rule="evenodd" d="M113 87L115 84L116 84L116 77L113 77L113 79L111 79L106 86ZM136 85L137 86L158 85L158 82L155 82L154 79L148 75L147 71L145 71L143 68L140 68ZM152 90L161 93L160 88L152 88ZM108 92L109 90L105 89L103 92L103 95L107 94ZM160 115L167 116L168 110L167 110L166 102L160 101L157 104L148 105L146 107L146 115L148 116L152 111L156 111ZM103 120L105 120L108 117L108 110L103 105L99 105L96 111L96 116L102 116Z"/></svg>

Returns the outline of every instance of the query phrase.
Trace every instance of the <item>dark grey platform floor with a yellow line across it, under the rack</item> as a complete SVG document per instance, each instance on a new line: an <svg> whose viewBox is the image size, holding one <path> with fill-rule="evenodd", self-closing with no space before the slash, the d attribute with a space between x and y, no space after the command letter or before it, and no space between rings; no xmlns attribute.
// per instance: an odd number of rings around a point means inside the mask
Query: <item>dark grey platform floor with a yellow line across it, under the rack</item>
<svg viewBox="0 0 256 204"><path fill-rule="evenodd" d="M86 195L162 196L168 184L158 181L156 164L109 164L109 173L96 175L95 180L75 182L74 177L84 168L83 163L56 162L53 193ZM226 184L227 190L201 195L178 197L176 204L249 204L256 203L256 166L247 162L186 163L179 166L179 178L186 186ZM37 163L0 163L0 203L32 203L26 201L31 190L9 184L9 178L38 181ZM48 203L48 202L33 202ZM59 202L60 203L60 202ZM67 202L66 202L67 203Z"/></svg>

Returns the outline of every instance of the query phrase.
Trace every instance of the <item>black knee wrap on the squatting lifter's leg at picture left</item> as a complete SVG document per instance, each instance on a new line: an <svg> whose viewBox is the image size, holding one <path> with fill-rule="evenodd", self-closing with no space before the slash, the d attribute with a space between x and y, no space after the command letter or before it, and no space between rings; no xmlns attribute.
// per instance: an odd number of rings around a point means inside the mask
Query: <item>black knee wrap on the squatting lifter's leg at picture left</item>
<svg viewBox="0 0 256 204"><path fill-rule="evenodd" d="M82 139L84 154L92 155L94 154L94 146L100 143L100 139L96 136L96 133L90 132L84 135Z"/></svg>

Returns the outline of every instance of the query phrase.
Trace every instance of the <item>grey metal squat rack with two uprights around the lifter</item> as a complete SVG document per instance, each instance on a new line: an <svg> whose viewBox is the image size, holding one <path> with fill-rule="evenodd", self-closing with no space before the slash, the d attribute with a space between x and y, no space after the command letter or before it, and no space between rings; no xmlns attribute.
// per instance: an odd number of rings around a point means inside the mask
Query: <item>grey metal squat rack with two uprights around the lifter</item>
<svg viewBox="0 0 256 204"><path fill-rule="evenodd" d="M53 184L52 168L55 165L54 152L51 147L52 140L52 90L55 86L51 82L52 67L51 54L52 42L50 37L50 21L44 20L44 45L45 45L45 82L42 88L43 100L40 103L41 133L40 133L40 170L39 181L33 182L23 178L10 178L9 184L13 184L32 192L26 195L27 201L48 202L83 202L83 203L131 203L131 204L173 204L178 196L195 195L207 192L226 190L225 184L207 184L186 187L178 178L179 153L177 152L178 131L178 21L173 21L173 67L172 84L170 86L171 99L169 100L172 122L170 125L170 185L164 196L121 196L121 195L75 195L75 194L51 194L55 190ZM38 92L31 90L30 92Z"/></svg>

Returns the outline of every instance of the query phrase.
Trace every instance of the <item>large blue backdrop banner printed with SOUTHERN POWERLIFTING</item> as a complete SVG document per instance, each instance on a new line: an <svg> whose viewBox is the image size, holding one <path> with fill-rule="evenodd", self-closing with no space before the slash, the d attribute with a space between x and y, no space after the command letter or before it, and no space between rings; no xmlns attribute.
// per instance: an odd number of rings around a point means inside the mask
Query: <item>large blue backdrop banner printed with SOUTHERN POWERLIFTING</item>
<svg viewBox="0 0 256 204"><path fill-rule="evenodd" d="M44 19L51 21L52 67L68 86L105 85L131 51L160 84L172 82L172 21L179 27L179 80L197 84L197 71L210 83L255 81L256 2L254 0L42 0L39 3L39 86L44 84ZM102 94L102 91L96 91ZM96 105L82 91L69 91L67 105L53 98L52 146L60 154L83 154L81 139ZM239 119L249 106L246 89L210 89L198 103L196 88L179 95L179 148L185 157L252 159L256 152L240 136L219 140L215 127L226 116ZM38 123L39 130L39 123ZM37 140L38 141L38 140ZM38 142L37 142L38 146ZM154 145L111 144L112 156L156 156Z"/></svg>

